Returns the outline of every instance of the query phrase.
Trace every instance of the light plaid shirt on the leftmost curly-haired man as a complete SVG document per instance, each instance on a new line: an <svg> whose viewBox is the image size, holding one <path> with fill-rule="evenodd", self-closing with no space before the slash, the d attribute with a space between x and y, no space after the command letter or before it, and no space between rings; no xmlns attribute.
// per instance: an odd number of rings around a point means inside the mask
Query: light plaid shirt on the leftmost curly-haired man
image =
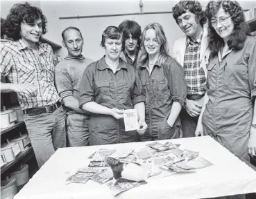
<svg viewBox="0 0 256 199"><path fill-rule="evenodd" d="M10 41L1 48L1 77L11 83L30 83L37 95L17 93L22 109L55 104L60 99L54 86L53 50L49 44L38 43L39 57L22 39Z"/></svg>

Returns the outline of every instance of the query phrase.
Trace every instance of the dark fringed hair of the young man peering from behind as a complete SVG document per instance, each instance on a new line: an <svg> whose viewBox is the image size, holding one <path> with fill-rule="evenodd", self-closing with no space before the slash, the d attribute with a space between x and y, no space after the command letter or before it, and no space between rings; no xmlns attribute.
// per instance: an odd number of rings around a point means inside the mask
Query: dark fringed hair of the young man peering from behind
<svg viewBox="0 0 256 199"><path fill-rule="evenodd" d="M138 39L137 49L139 50L142 44L142 28L136 21L124 20L118 28L123 32L124 39L128 39L129 35L133 35L135 39Z"/></svg>

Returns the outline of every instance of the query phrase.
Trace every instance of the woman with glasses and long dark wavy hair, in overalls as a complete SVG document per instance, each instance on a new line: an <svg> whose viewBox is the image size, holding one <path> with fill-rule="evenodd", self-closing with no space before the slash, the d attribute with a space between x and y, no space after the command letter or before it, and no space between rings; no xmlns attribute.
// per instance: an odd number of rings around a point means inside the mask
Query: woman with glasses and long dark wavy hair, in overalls
<svg viewBox="0 0 256 199"><path fill-rule="evenodd" d="M210 135L242 158L256 152L256 39L237 1L210 1L207 104L196 135Z"/></svg>

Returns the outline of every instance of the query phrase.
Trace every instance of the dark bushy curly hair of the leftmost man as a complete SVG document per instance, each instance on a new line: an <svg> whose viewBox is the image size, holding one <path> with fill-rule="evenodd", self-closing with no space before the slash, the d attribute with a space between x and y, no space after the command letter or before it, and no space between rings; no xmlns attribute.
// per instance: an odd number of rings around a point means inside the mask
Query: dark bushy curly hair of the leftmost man
<svg viewBox="0 0 256 199"><path fill-rule="evenodd" d="M3 24L3 33L11 39L17 41L21 39L21 23L35 23L38 19L42 20L42 35L46 30L47 19L42 14L42 10L35 6L31 6L29 3L17 3L10 9L10 13L6 17L6 21Z"/></svg>

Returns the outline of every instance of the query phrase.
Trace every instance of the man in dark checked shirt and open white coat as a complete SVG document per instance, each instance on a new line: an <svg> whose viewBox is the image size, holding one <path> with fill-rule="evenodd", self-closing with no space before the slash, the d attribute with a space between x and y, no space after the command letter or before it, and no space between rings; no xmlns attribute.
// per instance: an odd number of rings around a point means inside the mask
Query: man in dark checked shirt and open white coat
<svg viewBox="0 0 256 199"><path fill-rule="evenodd" d="M194 137L205 95L207 61L206 17L198 1L180 1L173 7L173 18L185 33L173 45L173 57L184 68L187 82L185 108L180 112L183 138Z"/></svg>

